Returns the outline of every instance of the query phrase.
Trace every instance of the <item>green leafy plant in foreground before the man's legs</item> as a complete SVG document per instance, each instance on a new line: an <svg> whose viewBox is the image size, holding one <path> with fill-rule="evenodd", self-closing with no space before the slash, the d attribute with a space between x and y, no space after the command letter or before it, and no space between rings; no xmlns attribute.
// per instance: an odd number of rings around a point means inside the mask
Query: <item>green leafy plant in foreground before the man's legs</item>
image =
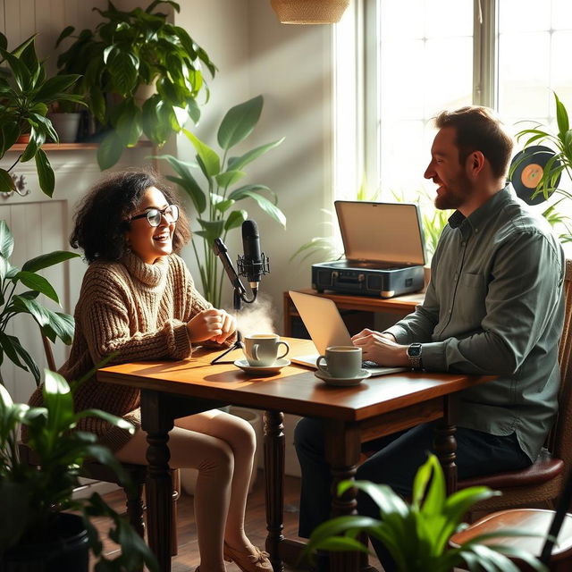
<svg viewBox="0 0 572 572"><path fill-rule="evenodd" d="M369 481L343 481L338 485L338 494L352 486L371 496L380 509L380 518L350 516L324 522L310 536L302 558L311 557L315 550L367 552L366 546L357 540L358 534L366 533L384 544L400 572L450 572L459 566L471 572L518 572L508 556L524 560L534 570L547 572L529 553L492 543L495 537L523 536L526 531L504 530L475 537L458 548L449 547L450 535L467 526L461 524L467 511L476 502L500 492L477 486L447 497L442 467L434 455L429 455L419 467L410 503L389 486Z"/></svg>

